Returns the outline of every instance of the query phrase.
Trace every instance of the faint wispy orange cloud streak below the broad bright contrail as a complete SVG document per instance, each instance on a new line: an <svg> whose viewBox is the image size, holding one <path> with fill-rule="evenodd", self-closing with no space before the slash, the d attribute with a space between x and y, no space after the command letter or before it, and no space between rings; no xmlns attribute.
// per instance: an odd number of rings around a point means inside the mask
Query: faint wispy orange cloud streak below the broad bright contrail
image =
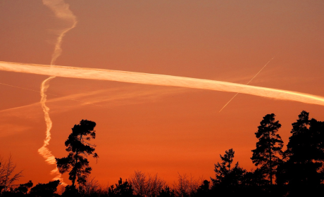
<svg viewBox="0 0 324 197"><path fill-rule="evenodd" d="M65 113L84 106L92 105L97 108L113 108L116 106L134 105L138 103L158 102L163 96L182 94L187 91L199 91L178 87L143 87L132 85L123 88L100 89L80 94L71 94L46 101L51 114ZM0 110L0 137L18 134L32 129L30 124L43 120L40 103ZM17 123L19 122L19 123Z"/></svg>

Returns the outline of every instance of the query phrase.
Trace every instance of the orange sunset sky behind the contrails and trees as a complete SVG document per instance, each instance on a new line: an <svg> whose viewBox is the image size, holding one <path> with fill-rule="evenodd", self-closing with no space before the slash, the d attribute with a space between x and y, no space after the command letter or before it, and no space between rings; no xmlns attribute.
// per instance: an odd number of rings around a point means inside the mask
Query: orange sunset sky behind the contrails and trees
<svg viewBox="0 0 324 197"><path fill-rule="evenodd" d="M63 37L56 65L145 72L247 84L324 96L324 2L66 0L77 18ZM59 32L69 24L41 0L0 1L0 61L49 65ZM38 149L46 125L40 85L48 76L0 71L0 155L13 156L20 182L47 183L55 165ZM135 170L169 184L178 173L214 177L229 148L235 163L255 168L255 132L268 113L287 145L301 110L324 120L324 106L233 92L56 77L46 106L53 122L49 150L68 155L73 125L96 122L101 184ZM285 146L284 146L285 147ZM64 181L70 184L68 175Z"/></svg>

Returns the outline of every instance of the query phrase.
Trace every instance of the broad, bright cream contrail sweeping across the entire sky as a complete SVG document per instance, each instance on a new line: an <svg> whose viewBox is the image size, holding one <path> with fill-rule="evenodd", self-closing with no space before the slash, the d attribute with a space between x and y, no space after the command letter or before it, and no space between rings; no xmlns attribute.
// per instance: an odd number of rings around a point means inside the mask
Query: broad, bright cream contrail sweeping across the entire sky
<svg viewBox="0 0 324 197"><path fill-rule="evenodd" d="M170 75L155 75L142 72L127 72L119 70L105 70L95 68L77 68L59 65L36 65L22 63L8 63L0 61L0 70L24 72L37 75L53 75L56 77L70 77L87 80L106 80L135 84L151 84L169 87L187 87L194 89L208 89L214 91L229 91L254 96L298 101L301 103L324 106L324 97L305 94L297 91L287 91L267 87L256 87L246 84L236 84L216 80L201 80L189 77Z"/></svg>

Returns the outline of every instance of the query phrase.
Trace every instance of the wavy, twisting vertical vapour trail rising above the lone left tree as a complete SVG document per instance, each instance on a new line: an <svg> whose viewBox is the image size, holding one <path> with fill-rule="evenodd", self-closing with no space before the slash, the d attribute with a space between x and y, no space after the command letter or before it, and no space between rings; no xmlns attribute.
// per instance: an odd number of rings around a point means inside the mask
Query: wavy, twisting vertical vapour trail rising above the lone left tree
<svg viewBox="0 0 324 197"><path fill-rule="evenodd" d="M72 25L66 29L61 30L60 34L58 34L58 38L56 39L54 52L51 56L51 65L55 65L55 61L58 58L58 56L61 56L62 49L62 41L65 34L72 30L75 25L77 25L77 19L75 15L70 11L69 5L64 2L64 0L43 0L43 4L51 9L51 11L54 12L57 18L60 18L61 20L65 20L68 23L71 23ZM41 85L41 100L40 103L42 105L42 109L44 112L44 119L46 122L46 138L44 139L44 144L41 148L38 149L38 152L40 155L45 158L46 162L55 165L56 160L54 155L49 151L49 148L46 146L49 145L49 141L51 140L51 117L49 117L49 107L46 106L46 90L49 88L49 81L54 79L54 76L51 76L44 80ZM66 185L66 183L63 182L63 179L61 178L61 173L58 172L57 167L51 171L51 174L56 174L56 177L54 177L54 180L59 179L63 185Z"/></svg>

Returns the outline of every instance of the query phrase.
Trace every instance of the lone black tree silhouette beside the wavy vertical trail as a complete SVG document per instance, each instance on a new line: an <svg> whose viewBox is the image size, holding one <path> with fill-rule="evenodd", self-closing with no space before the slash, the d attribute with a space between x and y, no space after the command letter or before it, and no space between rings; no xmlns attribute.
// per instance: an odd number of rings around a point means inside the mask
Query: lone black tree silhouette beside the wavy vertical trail
<svg viewBox="0 0 324 197"><path fill-rule="evenodd" d="M65 143L68 147L66 148L68 156L55 158L59 172L64 173L70 170L69 179L73 187L75 187L75 179L79 186L85 184L87 175L92 170L87 156L93 155L94 158L98 158L98 155L94 153L94 145L88 142L96 138L94 127L96 127L96 122L90 120L81 120L79 125L74 125Z"/></svg>

